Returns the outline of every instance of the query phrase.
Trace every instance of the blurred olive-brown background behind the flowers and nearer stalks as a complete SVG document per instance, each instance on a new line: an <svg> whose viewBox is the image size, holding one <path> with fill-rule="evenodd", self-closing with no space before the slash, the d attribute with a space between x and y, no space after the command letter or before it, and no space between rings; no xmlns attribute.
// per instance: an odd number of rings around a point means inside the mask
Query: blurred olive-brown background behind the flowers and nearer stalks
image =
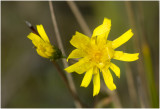
<svg viewBox="0 0 160 109"><path fill-rule="evenodd" d="M67 2L52 3L68 56L74 49L69 43L71 37L75 31L84 32ZM91 31L102 24L104 17L111 19L108 40L114 40L133 29L134 36L117 50L140 53L140 59L135 62L113 60L121 69L120 79L111 72L120 106L116 106L114 100L100 102L110 97L102 89L107 86L101 86L99 95L93 97L93 83L87 88L80 87L84 75L72 73L80 99L89 107L98 103L103 104L100 107L159 107L159 2L75 3ZM51 43L57 45L48 2L1 2L1 107L74 108L73 98L53 64L40 57L27 38L31 30L25 20L34 26L42 24ZM61 60L57 62L63 69ZM70 61L70 64L73 63Z"/></svg>

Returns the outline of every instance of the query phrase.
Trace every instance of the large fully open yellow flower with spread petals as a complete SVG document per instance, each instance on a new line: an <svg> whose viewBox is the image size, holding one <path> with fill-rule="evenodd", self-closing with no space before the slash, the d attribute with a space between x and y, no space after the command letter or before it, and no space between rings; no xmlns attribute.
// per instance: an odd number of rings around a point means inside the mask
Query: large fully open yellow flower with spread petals
<svg viewBox="0 0 160 109"><path fill-rule="evenodd" d="M89 85L93 75L93 96L98 95L100 91L100 72L102 72L108 88L110 90L116 89L110 69L120 78L120 68L113 64L111 59L128 62L138 59L139 53L130 54L115 51L116 48L127 42L133 36L132 30L130 29L119 38L109 41L107 37L110 29L111 20L104 18L103 24L95 28L91 38L76 32L70 41L77 49L70 53L68 59L80 59L77 63L67 67L65 70L69 73L77 72L78 74L86 72L81 83L82 87Z"/></svg>

